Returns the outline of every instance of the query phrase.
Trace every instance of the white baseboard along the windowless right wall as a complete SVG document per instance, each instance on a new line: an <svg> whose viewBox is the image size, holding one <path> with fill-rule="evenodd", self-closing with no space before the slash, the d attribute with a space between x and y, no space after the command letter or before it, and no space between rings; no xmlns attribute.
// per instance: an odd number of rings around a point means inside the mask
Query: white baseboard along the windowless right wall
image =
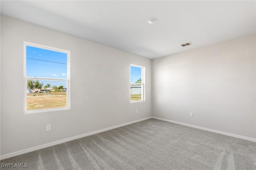
<svg viewBox="0 0 256 170"><path fill-rule="evenodd" d="M220 133L220 134L222 134L222 135L227 135L227 136L231 136L231 137L236 137L236 138L244 139L244 140L247 140L247 141L256 142L256 139L250 138L250 137L235 135L235 134L232 134L232 133L217 131L217 130L214 130L214 129L208 129L208 128L205 128L205 127L190 125L190 124L187 124L187 123L181 123L181 122L178 122L178 121L172 121L172 120L168 120L168 119L162 119L162 118L160 118L160 117L154 117L154 116L152 116L152 118L153 118L153 119L162 120L162 121L168 121L168 122L171 122L171 123L176 123L176 124L180 124L180 125L184 125L184 126L194 127L194 128L197 128L197 129L202 129L202 130L210 131L210 132L214 132L214 133Z"/></svg>

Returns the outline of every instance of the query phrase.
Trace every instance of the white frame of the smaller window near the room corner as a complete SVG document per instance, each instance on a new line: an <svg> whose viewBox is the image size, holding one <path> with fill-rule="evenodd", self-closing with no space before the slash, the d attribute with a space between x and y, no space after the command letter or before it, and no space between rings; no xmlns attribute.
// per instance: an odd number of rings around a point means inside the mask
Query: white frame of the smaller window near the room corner
<svg viewBox="0 0 256 170"><path fill-rule="evenodd" d="M131 103L145 102L145 67L131 64L130 65L130 81L131 81L131 66L141 68L141 83L131 83L130 82L130 88L131 88L132 84L141 84L141 100L131 100L130 99L130 102ZM130 95L130 98L131 98L131 95Z"/></svg>

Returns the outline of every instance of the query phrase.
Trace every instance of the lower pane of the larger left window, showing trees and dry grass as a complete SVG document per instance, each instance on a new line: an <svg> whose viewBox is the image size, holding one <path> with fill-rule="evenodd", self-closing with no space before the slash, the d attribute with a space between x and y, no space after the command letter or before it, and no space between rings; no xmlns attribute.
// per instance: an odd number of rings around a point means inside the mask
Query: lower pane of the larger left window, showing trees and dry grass
<svg viewBox="0 0 256 170"><path fill-rule="evenodd" d="M67 107L67 82L27 80L27 110Z"/></svg>

